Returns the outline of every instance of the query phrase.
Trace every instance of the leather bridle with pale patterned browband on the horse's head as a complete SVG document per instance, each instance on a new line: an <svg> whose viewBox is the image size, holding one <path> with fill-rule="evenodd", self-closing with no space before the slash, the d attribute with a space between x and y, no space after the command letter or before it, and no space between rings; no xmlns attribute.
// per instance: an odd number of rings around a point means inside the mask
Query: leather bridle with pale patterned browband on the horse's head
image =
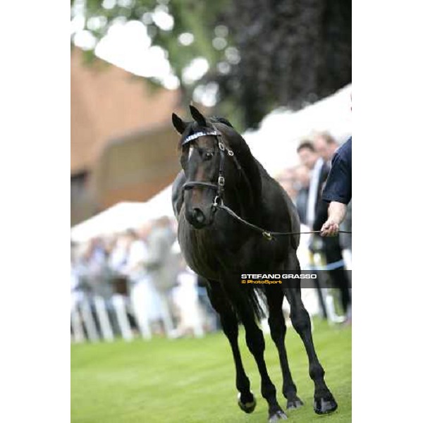
<svg viewBox="0 0 423 423"><path fill-rule="evenodd" d="M214 197L214 202L212 204L212 207L214 207L214 209L216 209L216 207L223 204L223 191L225 190L225 177L223 176L223 166L224 166L224 163L225 163L225 152L228 154L228 156L233 158L233 160L235 161L235 165L237 166L238 170L241 170L241 166L238 163L238 160L235 158L233 151L231 149L228 149L228 147L226 147L226 145L223 143L221 132L219 132L219 130L214 128L214 126L213 126L212 130L204 129L204 130L200 130L200 131L198 131L198 132L196 132L192 135L189 135L188 137L185 138L185 140L183 140L182 146L189 144L192 140L196 140L197 138L204 137L206 135L212 135L212 136L216 137L217 145L219 147L219 153L220 153L219 176L217 178L217 183L201 182L201 181L192 180L190 182L186 182L183 185L182 188L183 188L184 191L190 190L190 189L195 188L195 187L212 188L212 190L216 191L216 197Z"/></svg>

